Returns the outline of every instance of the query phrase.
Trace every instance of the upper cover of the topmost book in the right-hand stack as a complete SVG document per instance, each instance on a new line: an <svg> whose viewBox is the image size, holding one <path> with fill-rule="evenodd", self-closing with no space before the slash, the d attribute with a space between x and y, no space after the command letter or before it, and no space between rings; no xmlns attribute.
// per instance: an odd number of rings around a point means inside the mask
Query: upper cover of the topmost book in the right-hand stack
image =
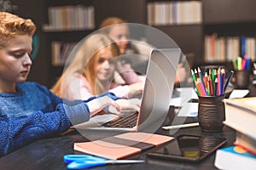
<svg viewBox="0 0 256 170"><path fill-rule="evenodd" d="M244 111L249 111L256 114L256 97L247 97L240 99L224 99L227 105L233 105Z"/></svg>

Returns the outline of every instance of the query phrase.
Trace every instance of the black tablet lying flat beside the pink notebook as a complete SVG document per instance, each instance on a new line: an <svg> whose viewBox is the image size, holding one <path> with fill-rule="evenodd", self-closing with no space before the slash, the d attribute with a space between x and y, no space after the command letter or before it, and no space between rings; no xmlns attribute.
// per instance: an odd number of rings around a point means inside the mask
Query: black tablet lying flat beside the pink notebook
<svg viewBox="0 0 256 170"><path fill-rule="evenodd" d="M182 134L150 151L150 158L200 162L226 142L224 138Z"/></svg>

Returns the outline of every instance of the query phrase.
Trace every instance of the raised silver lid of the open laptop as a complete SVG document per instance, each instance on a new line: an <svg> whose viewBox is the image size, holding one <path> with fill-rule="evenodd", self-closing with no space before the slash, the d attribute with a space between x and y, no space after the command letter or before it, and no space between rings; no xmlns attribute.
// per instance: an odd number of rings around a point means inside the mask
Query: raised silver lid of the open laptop
<svg viewBox="0 0 256 170"><path fill-rule="evenodd" d="M165 121L181 54L180 48L151 51L137 131L154 133Z"/></svg>

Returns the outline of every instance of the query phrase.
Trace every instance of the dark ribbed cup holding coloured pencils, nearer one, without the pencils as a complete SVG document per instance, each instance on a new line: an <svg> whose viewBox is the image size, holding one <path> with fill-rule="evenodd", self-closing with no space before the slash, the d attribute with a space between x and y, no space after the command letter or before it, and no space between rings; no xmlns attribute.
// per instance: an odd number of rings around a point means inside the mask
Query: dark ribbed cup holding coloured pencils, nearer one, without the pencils
<svg viewBox="0 0 256 170"><path fill-rule="evenodd" d="M198 96L198 122L204 132L220 132L224 127L224 95Z"/></svg>

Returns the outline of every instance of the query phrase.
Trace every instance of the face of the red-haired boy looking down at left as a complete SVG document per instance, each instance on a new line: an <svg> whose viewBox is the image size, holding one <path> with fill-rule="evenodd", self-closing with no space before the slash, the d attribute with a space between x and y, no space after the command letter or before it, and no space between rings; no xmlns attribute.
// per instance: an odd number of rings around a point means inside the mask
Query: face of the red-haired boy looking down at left
<svg viewBox="0 0 256 170"><path fill-rule="evenodd" d="M5 48L0 48L0 83L25 82L32 60L32 37L15 36Z"/></svg>

